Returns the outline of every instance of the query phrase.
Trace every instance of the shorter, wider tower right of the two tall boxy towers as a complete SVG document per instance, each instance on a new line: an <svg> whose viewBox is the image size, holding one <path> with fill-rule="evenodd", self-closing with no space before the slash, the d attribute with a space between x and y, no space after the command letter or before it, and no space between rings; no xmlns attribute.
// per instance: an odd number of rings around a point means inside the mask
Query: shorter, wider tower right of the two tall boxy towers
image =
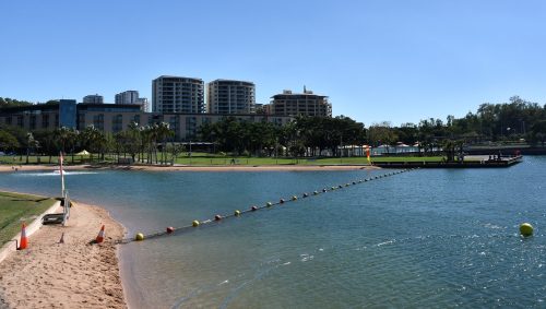
<svg viewBox="0 0 546 309"><path fill-rule="evenodd" d="M332 105L328 102L328 96L316 95L305 87L304 93L284 91L272 98L271 104L265 107L269 114L332 117Z"/></svg>

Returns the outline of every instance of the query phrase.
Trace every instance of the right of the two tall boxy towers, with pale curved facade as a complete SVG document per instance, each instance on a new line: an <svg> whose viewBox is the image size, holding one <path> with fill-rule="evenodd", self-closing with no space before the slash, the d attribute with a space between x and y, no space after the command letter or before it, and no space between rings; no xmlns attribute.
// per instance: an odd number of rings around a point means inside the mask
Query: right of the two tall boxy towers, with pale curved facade
<svg viewBox="0 0 546 309"><path fill-rule="evenodd" d="M215 80L207 84L206 108L211 114L253 114L254 84L244 81Z"/></svg>

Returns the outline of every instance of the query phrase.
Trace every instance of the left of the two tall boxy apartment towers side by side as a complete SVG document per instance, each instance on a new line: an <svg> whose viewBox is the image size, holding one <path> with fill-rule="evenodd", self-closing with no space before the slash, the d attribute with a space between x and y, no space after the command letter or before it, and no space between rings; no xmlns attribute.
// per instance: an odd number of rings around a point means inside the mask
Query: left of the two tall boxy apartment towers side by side
<svg viewBox="0 0 546 309"><path fill-rule="evenodd" d="M162 75L152 81L153 112L205 112L201 79Z"/></svg>

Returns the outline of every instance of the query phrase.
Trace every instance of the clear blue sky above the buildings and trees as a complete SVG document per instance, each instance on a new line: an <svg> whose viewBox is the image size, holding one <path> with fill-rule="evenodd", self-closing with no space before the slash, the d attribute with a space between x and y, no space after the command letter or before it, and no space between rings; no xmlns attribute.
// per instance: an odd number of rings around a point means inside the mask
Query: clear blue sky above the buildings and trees
<svg viewBox="0 0 546 309"><path fill-rule="evenodd" d="M365 126L546 103L543 0L0 1L0 97L136 90L159 75L304 85Z"/></svg>

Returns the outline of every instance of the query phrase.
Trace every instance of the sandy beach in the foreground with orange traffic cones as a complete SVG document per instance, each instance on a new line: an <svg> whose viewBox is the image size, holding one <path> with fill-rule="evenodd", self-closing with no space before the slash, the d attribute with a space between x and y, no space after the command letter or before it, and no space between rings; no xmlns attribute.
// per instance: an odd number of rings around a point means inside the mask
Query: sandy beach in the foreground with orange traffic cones
<svg viewBox="0 0 546 309"><path fill-rule="evenodd" d="M105 242L90 245L103 224ZM105 210L75 202L67 226L41 226L0 263L0 308L127 308L112 241L123 231Z"/></svg>

